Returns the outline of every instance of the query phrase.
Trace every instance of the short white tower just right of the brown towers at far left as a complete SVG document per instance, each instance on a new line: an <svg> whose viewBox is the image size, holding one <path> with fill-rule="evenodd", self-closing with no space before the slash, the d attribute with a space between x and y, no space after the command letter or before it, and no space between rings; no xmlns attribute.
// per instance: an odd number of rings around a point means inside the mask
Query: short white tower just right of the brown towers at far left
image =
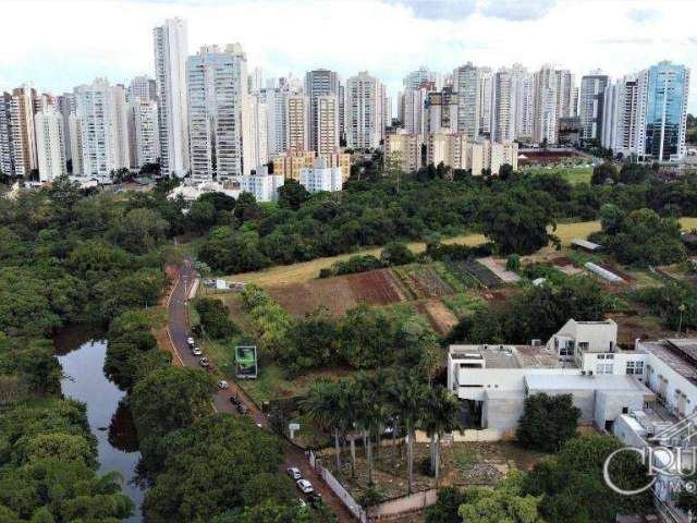
<svg viewBox="0 0 697 523"><path fill-rule="evenodd" d="M34 117L39 180L50 182L68 173L63 117L54 107L45 107Z"/></svg>

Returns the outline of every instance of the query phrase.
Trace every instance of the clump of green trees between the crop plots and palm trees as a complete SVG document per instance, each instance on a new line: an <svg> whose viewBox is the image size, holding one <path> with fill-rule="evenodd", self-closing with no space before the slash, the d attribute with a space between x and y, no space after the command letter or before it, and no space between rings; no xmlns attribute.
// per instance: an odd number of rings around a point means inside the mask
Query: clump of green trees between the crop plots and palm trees
<svg viewBox="0 0 697 523"><path fill-rule="evenodd" d="M262 355L283 364L291 377L327 366L418 365L437 344L426 320L408 312L360 304L341 318L322 308L294 318L254 284L245 287L242 301Z"/></svg>

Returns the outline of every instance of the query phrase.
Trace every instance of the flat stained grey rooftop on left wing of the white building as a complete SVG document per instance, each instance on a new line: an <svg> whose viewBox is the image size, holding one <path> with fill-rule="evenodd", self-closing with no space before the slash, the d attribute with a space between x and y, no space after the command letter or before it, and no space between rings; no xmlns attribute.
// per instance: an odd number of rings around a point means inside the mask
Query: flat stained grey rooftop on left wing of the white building
<svg viewBox="0 0 697 523"><path fill-rule="evenodd" d="M573 367L545 345L450 345L450 354L454 360L482 358L486 368Z"/></svg>

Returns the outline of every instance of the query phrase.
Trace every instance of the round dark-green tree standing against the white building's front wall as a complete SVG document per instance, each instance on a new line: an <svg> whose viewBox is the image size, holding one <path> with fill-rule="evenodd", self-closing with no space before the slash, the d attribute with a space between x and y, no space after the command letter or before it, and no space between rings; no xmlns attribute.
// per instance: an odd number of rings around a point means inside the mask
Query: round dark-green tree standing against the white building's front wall
<svg viewBox="0 0 697 523"><path fill-rule="evenodd" d="M525 399L525 409L516 430L516 439L528 449L555 452L576 436L580 409L572 394L538 393Z"/></svg>

